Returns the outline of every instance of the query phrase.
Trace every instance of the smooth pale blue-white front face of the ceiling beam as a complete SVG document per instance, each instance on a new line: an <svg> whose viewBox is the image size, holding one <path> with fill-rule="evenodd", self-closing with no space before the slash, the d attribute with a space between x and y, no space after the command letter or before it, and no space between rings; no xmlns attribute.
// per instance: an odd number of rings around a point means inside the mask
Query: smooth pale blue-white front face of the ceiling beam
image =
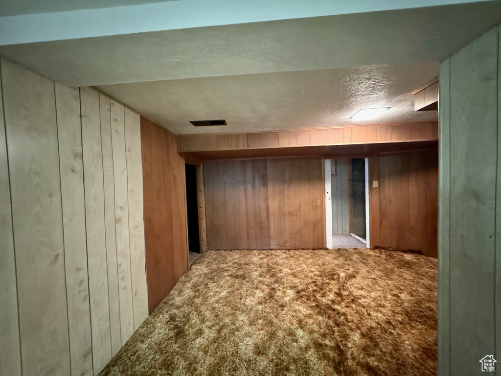
<svg viewBox="0 0 501 376"><path fill-rule="evenodd" d="M2 0L2 3L16 0ZM59 0L62 9L68 9ZM496 1L496 0L490 0ZM378 12L398 9L475 3L475 0L177 0L128 6L80 9L68 12L0 17L0 45L200 28L218 25ZM58 0L23 0L26 13L53 11ZM85 8L84 3L80 7ZM99 2L89 2L98 8ZM30 4L33 4L31 10ZM105 2L120 5L120 1ZM0 7L0 16L2 11ZM6 10L9 7L4 7ZM78 8L77 8L78 9ZM19 13L18 10L16 13ZM12 12L11 12L12 13ZM5 14L4 14L5 15Z"/></svg>

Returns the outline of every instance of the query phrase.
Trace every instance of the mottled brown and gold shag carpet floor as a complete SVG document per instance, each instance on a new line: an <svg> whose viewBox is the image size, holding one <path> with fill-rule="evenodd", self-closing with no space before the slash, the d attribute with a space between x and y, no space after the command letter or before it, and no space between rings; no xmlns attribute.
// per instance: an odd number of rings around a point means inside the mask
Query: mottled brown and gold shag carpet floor
<svg viewBox="0 0 501 376"><path fill-rule="evenodd" d="M437 261L209 251L100 373L434 375Z"/></svg>

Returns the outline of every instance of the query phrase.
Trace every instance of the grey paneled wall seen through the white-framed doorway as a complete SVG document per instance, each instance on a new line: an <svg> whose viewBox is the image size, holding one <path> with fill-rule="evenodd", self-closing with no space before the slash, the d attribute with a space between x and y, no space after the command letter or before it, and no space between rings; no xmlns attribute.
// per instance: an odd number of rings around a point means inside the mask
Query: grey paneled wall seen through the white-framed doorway
<svg viewBox="0 0 501 376"><path fill-rule="evenodd" d="M331 160L332 234L350 234L351 160Z"/></svg>

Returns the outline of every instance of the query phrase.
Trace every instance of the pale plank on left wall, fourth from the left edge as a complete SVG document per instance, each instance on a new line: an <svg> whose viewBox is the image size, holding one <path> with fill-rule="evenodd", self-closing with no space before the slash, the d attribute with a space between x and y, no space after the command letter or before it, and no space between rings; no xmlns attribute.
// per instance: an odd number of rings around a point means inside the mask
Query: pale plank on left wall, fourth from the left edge
<svg viewBox="0 0 501 376"><path fill-rule="evenodd" d="M80 89L85 216L94 371L111 358L99 94Z"/></svg>

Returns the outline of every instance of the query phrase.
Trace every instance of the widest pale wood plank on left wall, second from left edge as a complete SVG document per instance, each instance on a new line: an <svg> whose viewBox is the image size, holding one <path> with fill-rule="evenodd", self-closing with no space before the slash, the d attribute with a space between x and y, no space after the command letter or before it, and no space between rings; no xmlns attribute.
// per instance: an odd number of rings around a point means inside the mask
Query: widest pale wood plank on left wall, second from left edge
<svg viewBox="0 0 501 376"><path fill-rule="evenodd" d="M1 66L23 373L66 376L70 349L54 84L9 61L2 59Z"/></svg>

